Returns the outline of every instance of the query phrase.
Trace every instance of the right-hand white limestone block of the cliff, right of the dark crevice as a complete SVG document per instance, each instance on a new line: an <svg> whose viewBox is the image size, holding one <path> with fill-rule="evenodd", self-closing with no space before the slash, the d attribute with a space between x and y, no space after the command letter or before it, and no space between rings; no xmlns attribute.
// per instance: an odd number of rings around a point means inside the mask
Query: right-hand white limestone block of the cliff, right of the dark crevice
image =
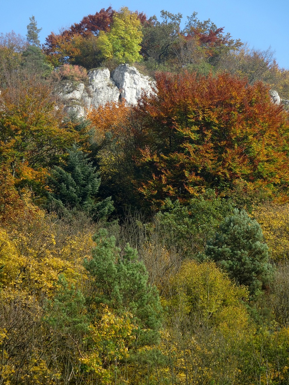
<svg viewBox="0 0 289 385"><path fill-rule="evenodd" d="M155 86L148 76L140 74L135 67L128 64L116 67L112 72L112 78L119 88L121 97L130 105L136 104L143 92L151 94Z"/></svg>

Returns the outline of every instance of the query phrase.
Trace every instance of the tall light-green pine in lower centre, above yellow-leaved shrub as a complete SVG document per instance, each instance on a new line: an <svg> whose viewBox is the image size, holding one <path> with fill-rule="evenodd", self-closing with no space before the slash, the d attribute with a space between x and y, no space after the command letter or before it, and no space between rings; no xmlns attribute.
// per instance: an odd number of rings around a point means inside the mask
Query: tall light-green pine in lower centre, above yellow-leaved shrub
<svg viewBox="0 0 289 385"><path fill-rule="evenodd" d="M100 229L93 240L92 259L85 261L93 287L89 303L103 303L119 315L129 311L138 325L138 343L155 342L161 328L160 299L156 288L148 285L148 272L138 262L136 249L127 244L121 256L106 229Z"/></svg>

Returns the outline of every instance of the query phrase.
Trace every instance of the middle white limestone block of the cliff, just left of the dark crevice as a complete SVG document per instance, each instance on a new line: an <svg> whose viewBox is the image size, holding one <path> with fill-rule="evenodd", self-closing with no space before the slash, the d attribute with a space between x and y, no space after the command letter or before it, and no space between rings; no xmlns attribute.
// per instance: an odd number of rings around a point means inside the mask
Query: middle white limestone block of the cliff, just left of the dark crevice
<svg viewBox="0 0 289 385"><path fill-rule="evenodd" d="M89 71L88 92L91 95L90 107L97 108L106 102L118 102L119 89L110 77L107 68Z"/></svg>

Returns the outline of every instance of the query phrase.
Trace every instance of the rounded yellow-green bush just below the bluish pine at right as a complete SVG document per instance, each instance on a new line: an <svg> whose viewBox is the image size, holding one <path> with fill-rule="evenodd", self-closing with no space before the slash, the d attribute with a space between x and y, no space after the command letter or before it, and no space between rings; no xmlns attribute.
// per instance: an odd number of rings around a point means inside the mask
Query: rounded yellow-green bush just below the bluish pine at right
<svg viewBox="0 0 289 385"><path fill-rule="evenodd" d="M237 287L226 273L213 262L184 261L178 274L172 278L176 291L174 301L181 301L181 316L190 315L195 323L222 325L224 328L246 328L248 316L240 300L247 299L247 288ZM174 305L175 308L180 306ZM197 325L196 325L197 326ZM233 331L233 330L232 330Z"/></svg>

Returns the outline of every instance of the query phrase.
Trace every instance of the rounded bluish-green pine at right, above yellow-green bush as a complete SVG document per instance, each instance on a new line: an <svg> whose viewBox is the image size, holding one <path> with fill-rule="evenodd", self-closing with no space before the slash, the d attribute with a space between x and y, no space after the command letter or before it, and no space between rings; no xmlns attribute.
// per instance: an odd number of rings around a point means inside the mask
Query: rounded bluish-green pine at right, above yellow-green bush
<svg viewBox="0 0 289 385"><path fill-rule="evenodd" d="M272 275L269 249L260 225L245 210L235 209L232 216L225 218L214 238L207 242L205 254L237 285L248 286L251 298L258 295Z"/></svg>

